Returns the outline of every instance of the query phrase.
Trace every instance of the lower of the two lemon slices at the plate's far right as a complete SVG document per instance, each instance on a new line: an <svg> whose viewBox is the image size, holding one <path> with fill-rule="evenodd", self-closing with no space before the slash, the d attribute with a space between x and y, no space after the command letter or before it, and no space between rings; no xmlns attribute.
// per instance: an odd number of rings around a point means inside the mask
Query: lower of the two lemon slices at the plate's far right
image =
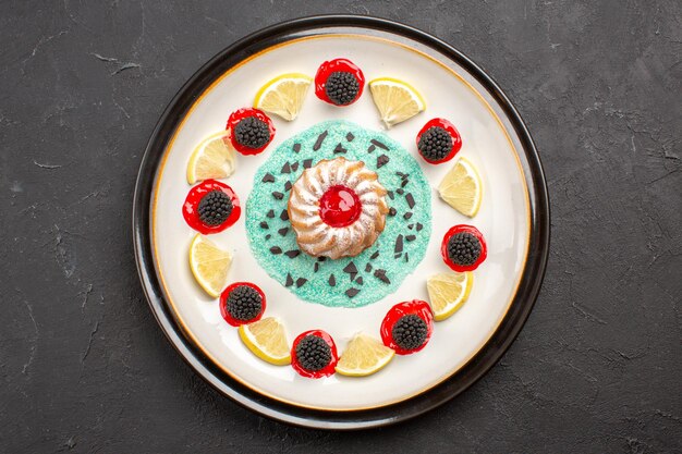
<svg viewBox="0 0 682 454"><path fill-rule="evenodd" d="M442 321L453 315L468 298L474 284L474 274L449 272L431 275L426 281L434 319Z"/></svg>

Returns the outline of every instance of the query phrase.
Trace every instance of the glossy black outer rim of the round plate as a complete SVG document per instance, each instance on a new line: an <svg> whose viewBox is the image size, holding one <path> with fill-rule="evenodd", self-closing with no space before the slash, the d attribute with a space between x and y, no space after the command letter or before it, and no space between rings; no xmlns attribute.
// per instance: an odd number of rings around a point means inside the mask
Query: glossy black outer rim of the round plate
<svg viewBox="0 0 682 454"><path fill-rule="evenodd" d="M154 265L149 210L157 169L168 139L194 103L197 93L215 81L217 68L226 61L244 60L253 47L268 48L292 39L297 33L330 27L377 29L413 39L453 60L480 83L502 109L521 143L523 154L520 152L519 158L531 210L527 259L516 293L497 330L475 356L448 379L421 394L395 404L346 412L309 409L264 396L229 377L204 356L187 339L165 299ZM218 392L263 416L302 427L336 430L380 427L416 417L461 394L487 373L511 346L533 309L549 256L549 196L539 155L521 115L497 83L462 52L426 32L392 20L354 14L300 17L261 28L226 47L202 65L166 107L149 137L134 189L132 216L135 260L145 296L159 327L190 367Z"/></svg>

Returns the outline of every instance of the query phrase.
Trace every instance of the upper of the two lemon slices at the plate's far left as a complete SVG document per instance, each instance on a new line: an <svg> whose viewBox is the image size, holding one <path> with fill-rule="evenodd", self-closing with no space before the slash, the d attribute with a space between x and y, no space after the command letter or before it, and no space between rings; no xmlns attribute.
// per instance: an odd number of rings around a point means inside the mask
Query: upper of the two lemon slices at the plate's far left
<svg viewBox="0 0 682 454"><path fill-rule="evenodd" d="M234 172L234 150L229 145L228 132L206 137L194 148L187 163L187 183L208 179L226 179Z"/></svg>

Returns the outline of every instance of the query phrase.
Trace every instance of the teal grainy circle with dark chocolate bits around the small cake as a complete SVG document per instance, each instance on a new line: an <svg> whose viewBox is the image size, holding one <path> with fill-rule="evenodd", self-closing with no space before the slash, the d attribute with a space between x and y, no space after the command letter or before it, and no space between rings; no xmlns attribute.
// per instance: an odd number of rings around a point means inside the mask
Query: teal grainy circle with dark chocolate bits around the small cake
<svg viewBox="0 0 682 454"><path fill-rule="evenodd" d="M306 168L338 157L364 161L377 172L390 211L370 247L331 260L300 250L287 206ZM281 144L256 172L246 232L260 266L300 298L332 307L365 306L394 292L424 258L431 234L430 187L417 161L390 137L348 121L318 123Z"/></svg>

